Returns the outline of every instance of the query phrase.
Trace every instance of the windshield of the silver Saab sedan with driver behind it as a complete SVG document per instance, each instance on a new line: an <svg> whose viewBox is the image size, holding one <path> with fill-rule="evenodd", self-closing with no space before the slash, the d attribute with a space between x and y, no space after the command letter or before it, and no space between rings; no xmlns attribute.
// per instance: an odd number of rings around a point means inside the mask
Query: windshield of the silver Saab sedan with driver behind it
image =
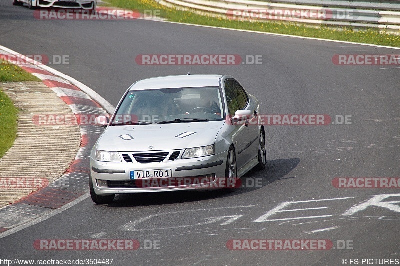
<svg viewBox="0 0 400 266"><path fill-rule="evenodd" d="M219 87L129 91L111 125L223 119Z"/></svg>

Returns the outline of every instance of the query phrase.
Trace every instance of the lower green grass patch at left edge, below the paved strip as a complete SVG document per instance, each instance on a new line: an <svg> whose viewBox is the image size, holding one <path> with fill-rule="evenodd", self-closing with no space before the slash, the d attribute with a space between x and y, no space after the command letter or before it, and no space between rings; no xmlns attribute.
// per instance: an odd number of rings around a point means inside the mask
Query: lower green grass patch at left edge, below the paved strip
<svg viewBox="0 0 400 266"><path fill-rule="evenodd" d="M16 138L18 109L0 90L0 158L12 147Z"/></svg>

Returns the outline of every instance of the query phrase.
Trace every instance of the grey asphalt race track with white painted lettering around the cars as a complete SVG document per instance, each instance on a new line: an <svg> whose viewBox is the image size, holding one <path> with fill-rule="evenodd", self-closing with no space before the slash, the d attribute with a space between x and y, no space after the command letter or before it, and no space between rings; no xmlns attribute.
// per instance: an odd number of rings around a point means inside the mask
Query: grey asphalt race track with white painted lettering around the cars
<svg viewBox="0 0 400 266"><path fill-rule="evenodd" d="M233 193L122 195L110 205L95 205L87 198L1 238L1 259L113 258L113 265L341 265L343 258L400 258L398 188L332 186L335 177L400 176L399 68L337 66L331 61L334 54L398 50L148 20L37 20L33 11L14 7L10 0L0 3L0 36L0 45L21 54L69 55L69 65L51 67L113 105L138 79L190 70L236 77L260 100L265 114L352 115L349 125L266 126L267 168L243 178L261 178L261 187ZM135 62L138 54L240 54L263 59L261 65L142 66ZM364 205L365 209L357 205L383 194L390 194L382 198L384 203ZM295 202L281 209L285 212L262 217L287 201L308 202ZM296 211L287 211L292 209ZM143 249L33 247L40 239L91 238L137 239ZM328 239L334 248L230 250L226 244L232 239ZM146 240L157 241L160 249L144 249ZM337 243L343 240L352 249L340 249Z"/></svg>

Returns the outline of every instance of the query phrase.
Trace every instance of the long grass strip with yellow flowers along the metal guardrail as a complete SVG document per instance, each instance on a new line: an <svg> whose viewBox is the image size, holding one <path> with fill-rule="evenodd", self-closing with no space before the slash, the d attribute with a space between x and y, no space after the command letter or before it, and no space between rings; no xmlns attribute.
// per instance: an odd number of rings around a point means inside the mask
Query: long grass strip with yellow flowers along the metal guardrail
<svg viewBox="0 0 400 266"><path fill-rule="evenodd" d="M353 30L351 27L331 28L322 26L315 28L286 21L237 21L220 17L202 16L189 11L167 8L154 0L107 0L107 2L110 6L125 9L135 9L139 11L160 10L161 17L175 22L400 47L400 35L381 33L374 28Z"/></svg>

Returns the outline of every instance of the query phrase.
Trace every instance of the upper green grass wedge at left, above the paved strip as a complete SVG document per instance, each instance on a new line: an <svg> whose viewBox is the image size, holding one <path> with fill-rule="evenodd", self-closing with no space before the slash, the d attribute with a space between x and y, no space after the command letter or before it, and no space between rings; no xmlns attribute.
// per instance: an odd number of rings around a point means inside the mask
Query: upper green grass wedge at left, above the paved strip
<svg viewBox="0 0 400 266"><path fill-rule="evenodd" d="M41 81L22 68L0 59L0 82Z"/></svg>

